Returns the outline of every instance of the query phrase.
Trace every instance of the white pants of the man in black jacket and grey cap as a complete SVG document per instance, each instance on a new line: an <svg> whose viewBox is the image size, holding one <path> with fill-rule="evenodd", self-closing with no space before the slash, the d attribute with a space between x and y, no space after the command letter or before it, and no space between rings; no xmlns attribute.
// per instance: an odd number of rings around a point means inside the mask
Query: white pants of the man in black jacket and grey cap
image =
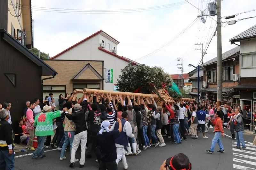
<svg viewBox="0 0 256 170"><path fill-rule="evenodd" d="M76 150L81 142L81 158L80 158L80 165L84 165L85 162L85 147L87 142L87 131L82 131L74 136L72 150L71 150L71 159L70 162L75 162L76 157Z"/></svg>

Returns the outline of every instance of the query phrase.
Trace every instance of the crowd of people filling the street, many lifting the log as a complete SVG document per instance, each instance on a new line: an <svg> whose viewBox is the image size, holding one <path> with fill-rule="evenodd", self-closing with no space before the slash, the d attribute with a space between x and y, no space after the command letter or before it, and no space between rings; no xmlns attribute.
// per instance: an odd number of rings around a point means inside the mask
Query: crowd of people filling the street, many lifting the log
<svg viewBox="0 0 256 170"><path fill-rule="evenodd" d="M210 126L214 127L212 132L215 135L207 152L213 153L216 142L220 146L218 152L224 152L220 140L220 136L224 136L223 127L230 129L230 139L235 139L236 132L236 148L246 149L243 139L243 111L240 106L230 108L224 104L217 107L214 101L199 103L193 100L157 105L154 97L121 94L112 96L99 94L97 91L93 94L84 91L83 96L78 99L76 90L71 95L59 96L58 110L54 102L52 93L45 97L43 109L39 99L27 101L24 116L18 122L14 140L16 143L26 144L28 150L34 151L32 159L42 159L45 157L44 148L56 147L61 151L60 160L67 159L65 152L70 150L69 167L74 167L78 161L79 167L84 167L85 158L92 158L94 152L99 170L116 170L119 161L122 161L124 169L128 169L126 156L138 155L141 150L146 151L149 147L164 147L166 140L180 145L188 136L193 139L201 138L200 132L202 138L208 138L205 133L210 130ZM9 169L14 167L10 109L10 102L0 103L0 169L5 166ZM253 117L254 115L253 112ZM33 147L34 136L37 136L38 141L36 148ZM76 159L79 145L80 160ZM181 159L182 156L184 157L180 154L176 159ZM7 158L8 161L5 161ZM167 159L161 166L162 169L175 169L172 167L173 159L174 157ZM185 158L181 160L183 159ZM191 169L189 160L186 165L182 165L185 169Z"/></svg>

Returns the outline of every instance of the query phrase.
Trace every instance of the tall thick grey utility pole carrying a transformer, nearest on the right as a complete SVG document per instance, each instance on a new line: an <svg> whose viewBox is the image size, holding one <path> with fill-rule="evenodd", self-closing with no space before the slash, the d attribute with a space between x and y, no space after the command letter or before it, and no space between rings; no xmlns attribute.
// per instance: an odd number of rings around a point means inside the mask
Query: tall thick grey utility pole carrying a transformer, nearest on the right
<svg viewBox="0 0 256 170"><path fill-rule="evenodd" d="M222 45L221 45L221 0L217 0L217 104L222 101Z"/></svg>

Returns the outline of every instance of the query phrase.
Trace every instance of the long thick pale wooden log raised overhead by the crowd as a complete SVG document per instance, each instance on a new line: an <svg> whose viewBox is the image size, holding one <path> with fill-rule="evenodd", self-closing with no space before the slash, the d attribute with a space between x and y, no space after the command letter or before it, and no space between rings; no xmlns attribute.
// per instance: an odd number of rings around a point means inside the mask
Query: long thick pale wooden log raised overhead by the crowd
<svg viewBox="0 0 256 170"><path fill-rule="evenodd" d="M84 89L86 92L88 93L94 93L95 91L99 92L100 94L101 93L111 93L111 95L130 95L130 96L135 96L135 97L138 97L138 96L145 96L145 97L154 97L154 98L158 98L158 96L156 94L143 94L143 93L131 93L131 92L122 92L122 91L109 91L109 90L97 90L97 89ZM83 93L83 90L81 89L76 89L76 92L77 93Z"/></svg>

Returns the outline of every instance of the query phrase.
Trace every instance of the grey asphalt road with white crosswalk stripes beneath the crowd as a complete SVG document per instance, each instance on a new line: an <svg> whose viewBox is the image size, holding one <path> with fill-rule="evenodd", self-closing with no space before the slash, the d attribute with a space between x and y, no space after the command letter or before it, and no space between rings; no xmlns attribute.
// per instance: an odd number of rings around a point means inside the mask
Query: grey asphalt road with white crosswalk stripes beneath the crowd
<svg viewBox="0 0 256 170"><path fill-rule="evenodd" d="M212 129L210 130L212 131ZM230 132L225 129L225 134L230 135ZM149 148L146 151L142 151L137 156L127 156L127 163L130 170L158 170L162 162L175 155L176 153L185 153L192 164L194 170L256 170L256 146L250 145L254 135L248 135L244 133L244 140L247 141L247 150L241 151L232 148L232 145L236 145L236 140L230 140L229 137L221 137L224 145L225 153L217 153L219 146L216 144L214 154L206 152L211 146L214 133L206 133L209 138L202 138L202 134L199 134L198 139L191 139L188 137L187 141L182 141L181 145L173 145L169 142L168 138L164 138L165 147ZM26 170L65 170L70 169L69 159L70 152L66 152L66 160L60 161L60 151L49 149L51 151L46 152L46 157L34 160L31 159L31 151L18 152L15 156L15 169ZM78 149L79 151L79 149ZM76 153L76 158L80 158L80 152ZM95 158L86 159L86 170L97 170L98 163L95 162ZM118 168L123 169L123 164L120 162ZM79 162L76 163L76 169L79 169Z"/></svg>

